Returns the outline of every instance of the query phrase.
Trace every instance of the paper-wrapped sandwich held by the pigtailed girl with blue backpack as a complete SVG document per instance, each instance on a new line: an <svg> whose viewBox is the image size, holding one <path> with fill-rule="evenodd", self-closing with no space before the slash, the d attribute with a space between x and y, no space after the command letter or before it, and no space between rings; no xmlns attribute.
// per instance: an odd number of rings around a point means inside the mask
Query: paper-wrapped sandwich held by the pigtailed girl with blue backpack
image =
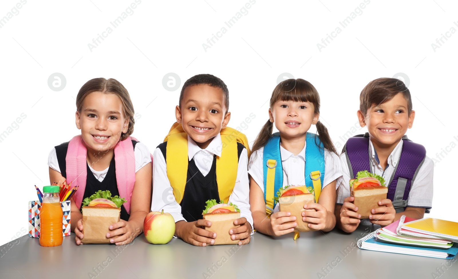
<svg viewBox="0 0 458 279"><path fill-rule="evenodd" d="M309 223L302 220L302 212L315 211L315 209L304 209L305 204L315 202L313 187L304 185L284 186L277 191L277 197L273 199L280 204L280 211L290 212L291 216L296 216L295 221L289 222L297 223L294 228L294 239L299 237L297 232L310 230Z"/></svg>

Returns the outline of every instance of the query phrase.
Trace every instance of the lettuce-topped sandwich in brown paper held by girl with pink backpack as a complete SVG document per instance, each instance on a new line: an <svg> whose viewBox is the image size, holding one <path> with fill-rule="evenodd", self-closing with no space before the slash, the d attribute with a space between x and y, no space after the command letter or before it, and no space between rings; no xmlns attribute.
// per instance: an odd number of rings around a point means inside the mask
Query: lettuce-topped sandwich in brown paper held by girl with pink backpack
<svg viewBox="0 0 458 279"><path fill-rule="evenodd" d="M82 224L84 244L110 243L107 233L110 232L109 226L119 222L121 205L125 202L124 198L118 196L111 197L110 191L97 191L91 197L87 197L82 202Z"/></svg>

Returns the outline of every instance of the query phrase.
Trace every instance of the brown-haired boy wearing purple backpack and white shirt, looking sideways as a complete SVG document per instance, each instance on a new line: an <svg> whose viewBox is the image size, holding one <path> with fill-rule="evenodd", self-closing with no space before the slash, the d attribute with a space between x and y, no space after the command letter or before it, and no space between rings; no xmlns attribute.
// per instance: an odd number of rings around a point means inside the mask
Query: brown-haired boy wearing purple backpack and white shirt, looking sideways
<svg viewBox="0 0 458 279"><path fill-rule="evenodd" d="M349 138L340 155L344 179L337 190L336 225L352 232L359 224L386 226L402 215L423 218L431 209L434 164L425 148L405 135L415 116L409 89L396 78L373 80L361 91L357 115L368 132ZM361 170L382 176L388 186L387 199L378 202L386 207L362 220L349 189Z"/></svg>

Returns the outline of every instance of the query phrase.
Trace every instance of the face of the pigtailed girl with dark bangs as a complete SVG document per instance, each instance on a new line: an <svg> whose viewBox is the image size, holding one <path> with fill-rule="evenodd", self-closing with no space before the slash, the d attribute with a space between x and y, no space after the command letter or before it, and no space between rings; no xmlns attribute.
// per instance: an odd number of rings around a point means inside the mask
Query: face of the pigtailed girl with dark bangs
<svg viewBox="0 0 458 279"><path fill-rule="evenodd" d="M275 124L282 138L305 138L319 116L309 102L278 101L269 109L269 119Z"/></svg>

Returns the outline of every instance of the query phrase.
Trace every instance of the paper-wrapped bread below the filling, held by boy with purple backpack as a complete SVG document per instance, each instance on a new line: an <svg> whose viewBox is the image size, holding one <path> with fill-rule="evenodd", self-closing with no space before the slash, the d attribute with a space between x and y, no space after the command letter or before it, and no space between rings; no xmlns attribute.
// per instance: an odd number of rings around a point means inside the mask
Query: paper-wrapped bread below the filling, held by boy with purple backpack
<svg viewBox="0 0 458 279"><path fill-rule="evenodd" d="M354 205L358 207L357 213L361 214L361 219L369 218L372 208L385 207L385 205L378 205L380 200L386 199L388 187L353 187L350 196L354 197Z"/></svg>

